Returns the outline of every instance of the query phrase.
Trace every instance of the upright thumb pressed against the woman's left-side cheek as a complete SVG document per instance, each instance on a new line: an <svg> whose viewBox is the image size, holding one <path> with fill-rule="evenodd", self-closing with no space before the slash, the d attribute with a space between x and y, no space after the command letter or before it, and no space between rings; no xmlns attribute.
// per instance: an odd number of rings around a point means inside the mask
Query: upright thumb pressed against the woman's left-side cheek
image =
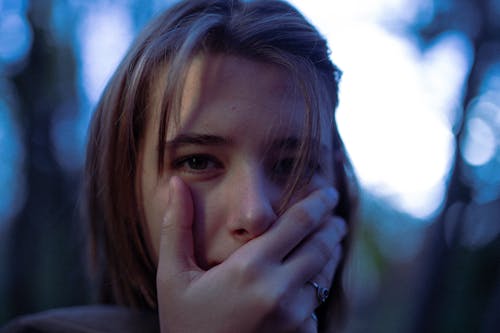
<svg viewBox="0 0 500 333"><path fill-rule="evenodd" d="M168 186L170 193L161 227L157 283L169 280L169 284L188 284L194 271L200 271L194 259L193 200L189 188L179 177L171 177ZM185 279L179 280L182 276Z"/></svg>

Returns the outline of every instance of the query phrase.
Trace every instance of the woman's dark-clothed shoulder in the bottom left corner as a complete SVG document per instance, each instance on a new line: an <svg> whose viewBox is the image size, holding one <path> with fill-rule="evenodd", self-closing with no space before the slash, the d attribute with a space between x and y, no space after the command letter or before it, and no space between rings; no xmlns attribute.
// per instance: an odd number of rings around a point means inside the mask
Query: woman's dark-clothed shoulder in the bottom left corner
<svg viewBox="0 0 500 333"><path fill-rule="evenodd" d="M19 317L0 333L157 333L156 313L120 306L79 306Z"/></svg>

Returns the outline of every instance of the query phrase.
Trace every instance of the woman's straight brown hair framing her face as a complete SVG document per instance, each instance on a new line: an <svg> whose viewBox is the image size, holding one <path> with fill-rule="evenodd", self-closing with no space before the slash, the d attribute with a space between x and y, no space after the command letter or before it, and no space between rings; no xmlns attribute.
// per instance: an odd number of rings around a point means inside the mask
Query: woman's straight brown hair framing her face
<svg viewBox="0 0 500 333"><path fill-rule="evenodd" d="M329 59L325 39L289 4L278 0L191 0L165 11L132 45L106 87L93 115L85 169L85 211L90 226L92 264L102 301L156 308L156 263L136 185L141 143L150 115L152 78L167 64L158 131L158 170L164 161L166 125L179 109L186 71L203 52L231 54L285 68L297 83L307 106L300 158L286 189L284 204L300 187L320 128L320 108L337 106L340 71ZM333 132L335 186L340 192L337 215L352 225L355 187L351 167L335 121ZM314 154L313 154L314 156ZM140 192L140 191L139 191ZM331 301L319 311L320 329L345 309L341 275ZM329 315L329 313L331 315ZM333 317L332 317L333 316Z"/></svg>

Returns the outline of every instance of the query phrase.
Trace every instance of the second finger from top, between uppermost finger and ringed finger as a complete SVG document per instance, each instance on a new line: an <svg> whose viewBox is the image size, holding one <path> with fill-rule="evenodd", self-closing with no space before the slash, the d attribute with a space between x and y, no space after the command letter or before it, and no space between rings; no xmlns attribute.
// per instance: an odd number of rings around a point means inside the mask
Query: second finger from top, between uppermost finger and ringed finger
<svg viewBox="0 0 500 333"><path fill-rule="evenodd" d="M328 217L320 229L305 239L283 262L285 272L283 274L293 277L296 285L304 282L324 271L326 267L339 258L338 246L346 235L346 226L343 219L339 217ZM332 271L335 270L333 265ZM333 279L333 272L326 274L328 279L323 285L329 286ZM323 282L323 281L322 281Z"/></svg>

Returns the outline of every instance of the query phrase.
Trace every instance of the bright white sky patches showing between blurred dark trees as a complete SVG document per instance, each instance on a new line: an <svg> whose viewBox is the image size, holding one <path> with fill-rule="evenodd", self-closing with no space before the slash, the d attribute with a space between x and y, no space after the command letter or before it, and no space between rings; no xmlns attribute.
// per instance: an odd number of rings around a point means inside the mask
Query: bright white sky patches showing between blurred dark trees
<svg viewBox="0 0 500 333"><path fill-rule="evenodd" d="M344 72L337 120L362 186L414 217L431 218L442 204L455 153L451 128L471 59L465 39L449 33L421 53L382 27L382 17L404 22L419 8L428 10L425 0L291 3L327 37ZM82 77L91 104L132 31L127 11L109 2L83 21Z"/></svg>

